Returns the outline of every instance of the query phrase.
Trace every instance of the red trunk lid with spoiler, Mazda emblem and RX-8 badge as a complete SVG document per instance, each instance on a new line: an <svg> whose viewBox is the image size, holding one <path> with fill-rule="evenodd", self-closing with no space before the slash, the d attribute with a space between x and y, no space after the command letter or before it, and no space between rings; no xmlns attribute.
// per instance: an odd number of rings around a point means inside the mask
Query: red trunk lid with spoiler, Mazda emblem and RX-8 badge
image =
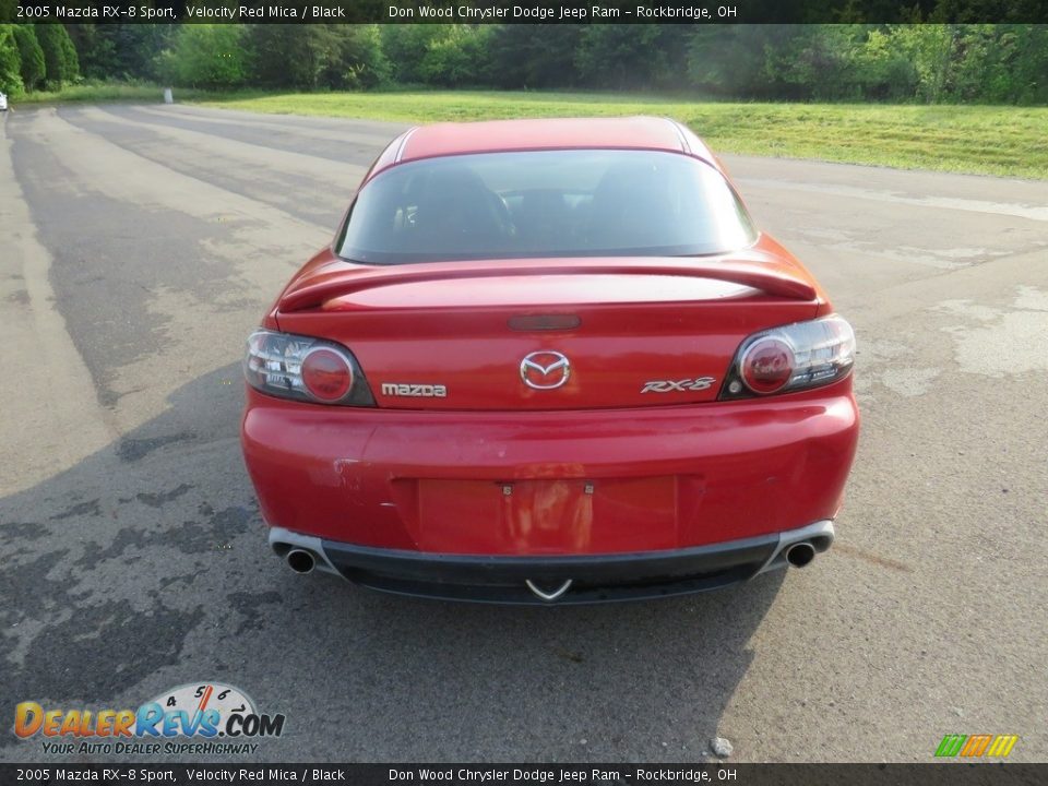
<svg viewBox="0 0 1048 786"><path fill-rule="evenodd" d="M752 259L540 260L318 270L289 333L347 346L380 407L575 409L714 401L741 341L818 297Z"/></svg>

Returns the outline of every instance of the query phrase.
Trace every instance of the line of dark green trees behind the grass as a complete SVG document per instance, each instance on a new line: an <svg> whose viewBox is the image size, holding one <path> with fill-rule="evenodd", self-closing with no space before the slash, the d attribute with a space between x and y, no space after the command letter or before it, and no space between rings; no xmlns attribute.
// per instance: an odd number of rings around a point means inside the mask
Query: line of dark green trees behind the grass
<svg viewBox="0 0 1048 786"><path fill-rule="evenodd" d="M0 90L82 80L1046 104L1048 25L0 25Z"/></svg>

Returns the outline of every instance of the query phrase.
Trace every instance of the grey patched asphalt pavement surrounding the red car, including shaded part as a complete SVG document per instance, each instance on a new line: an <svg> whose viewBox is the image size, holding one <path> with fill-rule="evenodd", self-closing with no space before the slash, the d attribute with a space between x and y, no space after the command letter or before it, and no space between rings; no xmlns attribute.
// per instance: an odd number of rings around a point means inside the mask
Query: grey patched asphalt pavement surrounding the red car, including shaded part
<svg viewBox="0 0 1048 786"><path fill-rule="evenodd" d="M1048 182L726 156L856 326L836 545L687 599L446 605L294 575L237 441L245 337L401 128L8 112L5 723L219 680L287 716L259 761L701 761L723 737L924 762L979 733L1048 760ZM3 761L49 755L0 735Z"/></svg>

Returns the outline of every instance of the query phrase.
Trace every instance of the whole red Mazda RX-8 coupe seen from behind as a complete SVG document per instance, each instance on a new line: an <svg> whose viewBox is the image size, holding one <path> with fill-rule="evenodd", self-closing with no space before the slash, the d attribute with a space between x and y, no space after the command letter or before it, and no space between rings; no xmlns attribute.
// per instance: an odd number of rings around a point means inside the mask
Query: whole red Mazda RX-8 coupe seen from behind
<svg viewBox="0 0 1048 786"><path fill-rule="evenodd" d="M855 338L666 119L395 139L248 341L291 569L586 603L803 565L858 437Z"/></svg>

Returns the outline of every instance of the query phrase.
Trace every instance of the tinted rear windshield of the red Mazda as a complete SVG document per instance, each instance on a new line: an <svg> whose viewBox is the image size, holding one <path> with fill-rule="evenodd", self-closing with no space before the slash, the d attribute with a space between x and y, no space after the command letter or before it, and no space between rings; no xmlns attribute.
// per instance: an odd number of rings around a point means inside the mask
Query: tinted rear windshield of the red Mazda
<svg viewBox="0 0 1048 786"><path fill-rule="evenodd" d="M541 151L402 164L365 186L340 254L371 264L680 257L754 240L724 177L684 155Z"/></svg>

